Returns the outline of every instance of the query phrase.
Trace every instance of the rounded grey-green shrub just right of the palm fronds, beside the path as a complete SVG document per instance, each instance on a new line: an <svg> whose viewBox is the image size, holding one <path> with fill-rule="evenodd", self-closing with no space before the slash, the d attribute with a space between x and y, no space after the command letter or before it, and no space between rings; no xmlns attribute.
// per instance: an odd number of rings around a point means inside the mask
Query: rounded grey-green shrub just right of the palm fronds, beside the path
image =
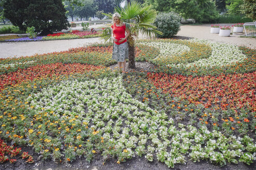
<svg viewBox="0 0 256 170"><path fill-rule="evenodd" d="M154 22L157 30L161 31L162 35L157 35L159 38L170 38L180 31L181 17L175 12L160 12Z"/></svg>

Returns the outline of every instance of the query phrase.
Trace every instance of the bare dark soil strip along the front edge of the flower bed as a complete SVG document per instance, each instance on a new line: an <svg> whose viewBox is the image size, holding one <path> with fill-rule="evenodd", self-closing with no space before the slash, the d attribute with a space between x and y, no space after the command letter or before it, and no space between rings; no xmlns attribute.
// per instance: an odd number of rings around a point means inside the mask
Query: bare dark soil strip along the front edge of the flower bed
<svg viewBox="0 0 256 170"><path fill-rule="evenodd" d="M16 146L20 147L20 146ZM21 146L22 152L28 151L29 154L31 154L34 158L35 163L29 164L25 162L25 160L22 160L21 158L18 158L17 161L13 164L10 164L9 162L5 162L0 164L1 170L32 170L32 169L39 169L39 170L47 170L49 168L52 168L53 170L81 170L81 169L89 169L89 170L105 170L105 169L111 169L111 170L121 170L121 169L127 169L127 170L167 170L167 169L175 169L175 170L217 170L217 169L225 169L225 170L234 170L234 169L241 169L241 170L253 170L256 167L256 162L252 163L251 165L247 165L245 163L239 162L238 164L229 164L220 167L218 165L212 164L208 161L200 161L197 163L194 163L187 158L186 164L176 164L174 168L168 168L167 165L165 165L162 162L158 162L156 158L153 162L147 161L145 158L139 158L135 157L131 160L127 160L126 162L121 162L120 164L117 164L117 159L109 159L104 163L103 158L101 157L100 153L95 155L95 158L91 163L88 163L85 158L81 157L76 159L75 161L71 163L54 163L52 160L42 160L39 157L39 154L35 153L32 149L32 147L23 147ZM104 164L103 164L104 163Z"/></svg>

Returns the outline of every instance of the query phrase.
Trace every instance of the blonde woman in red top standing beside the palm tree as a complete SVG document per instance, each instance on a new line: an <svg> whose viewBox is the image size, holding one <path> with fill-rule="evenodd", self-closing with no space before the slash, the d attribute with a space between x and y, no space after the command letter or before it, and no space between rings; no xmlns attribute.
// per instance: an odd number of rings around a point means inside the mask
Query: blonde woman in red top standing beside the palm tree
<svg viewBox="0 0 256 170"><path fill-rule="evenodd" d="M120 14L114 13L112 17L112 39L114 41L112 59L118 62L118 66L121 69L123 67L123 73L125 73L126 61L129 55L129 49L127 44L127 37L130 31L125 27L125 23L120 21ZM125 35L126 32L126 35Z"/></svg>

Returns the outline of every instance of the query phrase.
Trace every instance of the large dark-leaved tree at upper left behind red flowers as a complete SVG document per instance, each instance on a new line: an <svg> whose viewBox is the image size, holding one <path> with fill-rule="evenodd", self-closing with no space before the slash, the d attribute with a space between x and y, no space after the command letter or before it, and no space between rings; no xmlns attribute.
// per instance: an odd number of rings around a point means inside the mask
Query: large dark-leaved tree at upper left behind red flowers
<svg viewBox="0 0 256 170"><path fill-rule="evenodd" d="M34 26L46 35L69 26L61 0L4 0L4 9L4 16L22 31Z"/></svg>

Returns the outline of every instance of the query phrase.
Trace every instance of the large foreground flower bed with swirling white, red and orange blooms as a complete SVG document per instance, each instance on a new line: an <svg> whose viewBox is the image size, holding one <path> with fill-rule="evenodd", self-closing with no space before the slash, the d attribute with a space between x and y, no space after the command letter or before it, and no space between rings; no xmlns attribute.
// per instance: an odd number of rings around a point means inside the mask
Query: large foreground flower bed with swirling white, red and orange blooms
<svg viewBox="0 0 256 170"><path fill-rule="evenodd" d="M23 152L10 141L55 162L255 162L255 49L140 40L135 59L155 67L112 72L107 44L1 59L0 162Z"/></svg>

